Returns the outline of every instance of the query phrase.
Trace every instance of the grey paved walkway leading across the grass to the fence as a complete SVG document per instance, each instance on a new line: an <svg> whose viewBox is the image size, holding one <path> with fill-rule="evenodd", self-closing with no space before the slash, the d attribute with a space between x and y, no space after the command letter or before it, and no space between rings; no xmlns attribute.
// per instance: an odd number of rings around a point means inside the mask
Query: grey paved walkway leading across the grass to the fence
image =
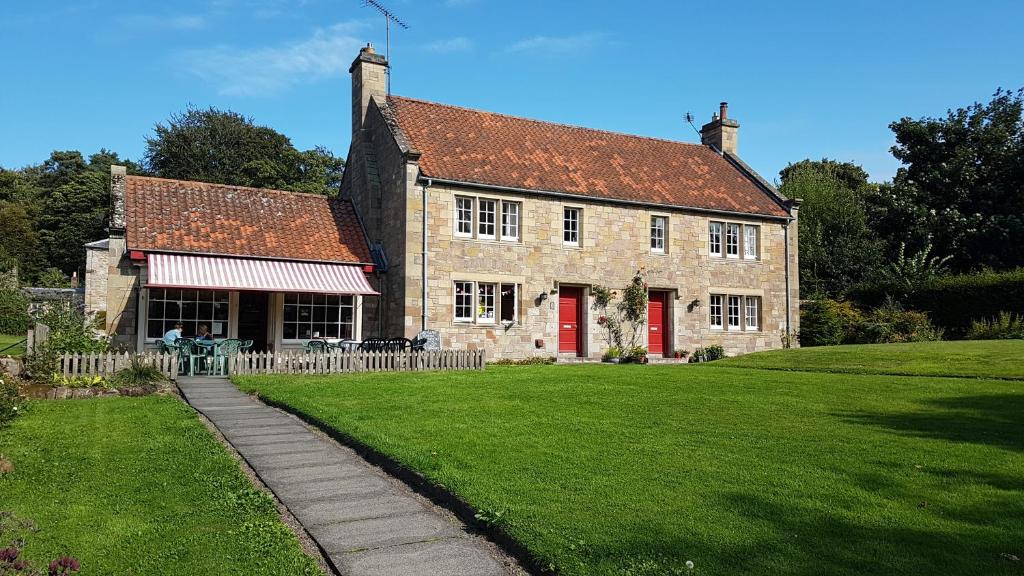
<svg viewBox="0 0 1024 576"><path fill-rule="evenodd" d="M226 378L178 387L256 470L344 575L506 576L487 546L353 451Z"/></svg>

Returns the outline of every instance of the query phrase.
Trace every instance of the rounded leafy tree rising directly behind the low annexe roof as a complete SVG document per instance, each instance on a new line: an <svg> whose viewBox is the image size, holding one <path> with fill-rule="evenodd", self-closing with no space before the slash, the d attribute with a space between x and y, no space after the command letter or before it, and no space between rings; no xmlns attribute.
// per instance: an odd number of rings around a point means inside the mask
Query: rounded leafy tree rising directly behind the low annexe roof
<svg viewBox="0 0 1024 576"><path fill-rule="evenodd" d="M157 124L145 166L158 176L336 194L344 161L325 148L300 152L284 134L214 108L187 109Z"/></svg>

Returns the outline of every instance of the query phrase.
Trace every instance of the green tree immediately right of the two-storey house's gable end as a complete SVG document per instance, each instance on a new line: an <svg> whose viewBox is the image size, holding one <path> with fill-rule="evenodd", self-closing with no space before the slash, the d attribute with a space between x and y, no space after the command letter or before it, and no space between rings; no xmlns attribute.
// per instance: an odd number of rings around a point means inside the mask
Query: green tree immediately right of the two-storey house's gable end
<svg viewBox="0 0 1024 576"><path fill-rule="evenodd" d="M779 172L780 192L801 198L800 283L805 294L839 295L866 280L882 260L867 225L867 172L850 162L802 160Z"/></svg>

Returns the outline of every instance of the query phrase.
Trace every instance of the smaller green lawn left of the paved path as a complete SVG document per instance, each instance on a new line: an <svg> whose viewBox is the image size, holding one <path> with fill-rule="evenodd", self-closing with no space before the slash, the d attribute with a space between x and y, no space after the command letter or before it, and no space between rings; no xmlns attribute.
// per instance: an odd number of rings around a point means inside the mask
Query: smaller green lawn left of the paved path
<svg viewBox="0 0 1024 576"><path fill-rule="evenodd" d="M176 398L37 401L0 453L0 510L38 526L26 556L44 571L70 553L83 574L322 574Z"/></svg>

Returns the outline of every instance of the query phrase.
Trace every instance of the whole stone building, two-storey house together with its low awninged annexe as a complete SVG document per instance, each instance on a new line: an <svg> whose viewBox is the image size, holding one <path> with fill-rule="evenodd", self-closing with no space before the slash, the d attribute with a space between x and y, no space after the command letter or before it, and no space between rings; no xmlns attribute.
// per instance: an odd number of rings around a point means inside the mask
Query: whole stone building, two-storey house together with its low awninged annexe
<svg viewBox="0 0 1024 576"><path fill-rule="evenodd" d="M388 95L387 66L368 46L349 70L338 198L112 168L86 302L117 343L180 321L255 349L433 330L489 358L598 358L592 292L640 270L652 355L798 329L799 203L739 159L724 102L685 143Z"/></svg>

